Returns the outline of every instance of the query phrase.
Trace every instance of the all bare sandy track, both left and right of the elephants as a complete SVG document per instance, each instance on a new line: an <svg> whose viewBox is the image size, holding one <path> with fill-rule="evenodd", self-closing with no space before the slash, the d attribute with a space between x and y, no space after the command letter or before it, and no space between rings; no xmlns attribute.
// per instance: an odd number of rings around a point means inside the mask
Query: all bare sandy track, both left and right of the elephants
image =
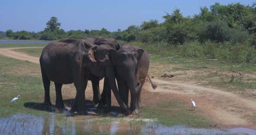
<svg viewBox="0 0 256 135"><path fill-rule="evenodd" d="M39 64L39 58L12 51L12 49L17 48L0 48L0 55ZM165 101L168 100L167 97L170 97L172 100L185 101L188 106L191 105L190 99L192 98L196 102L196 110L202 111L203 116L210 117L217 123L230 128L256 129L255 98L237 95L213 87L202 87L194 82L165 81L158 78L154 78L152 81L158 88L153 90L148 81L144 84L141 94L145 95L141 97L143 106L152 104L151 100L148 100L150 97L156 100L164 99ZM103 86L103 81L100 82L100 85ZM88 83L89 87L91 87L91 83Z"/></svg>

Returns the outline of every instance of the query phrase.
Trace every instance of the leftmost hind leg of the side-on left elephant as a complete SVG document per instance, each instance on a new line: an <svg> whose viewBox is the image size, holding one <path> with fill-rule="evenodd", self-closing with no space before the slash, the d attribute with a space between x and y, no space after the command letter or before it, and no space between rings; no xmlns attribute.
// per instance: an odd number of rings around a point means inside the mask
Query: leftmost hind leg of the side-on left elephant
<svg viewBox="0 0 256 135"><path fill-rule="evenodd" d="M43 87L44 87L44 104L45 105L53 105L50 100L50 84L51 81L48 79L46 76L46 73L44 69L41 67L41 72L42 72L42 78L43 78Z"/></svg>

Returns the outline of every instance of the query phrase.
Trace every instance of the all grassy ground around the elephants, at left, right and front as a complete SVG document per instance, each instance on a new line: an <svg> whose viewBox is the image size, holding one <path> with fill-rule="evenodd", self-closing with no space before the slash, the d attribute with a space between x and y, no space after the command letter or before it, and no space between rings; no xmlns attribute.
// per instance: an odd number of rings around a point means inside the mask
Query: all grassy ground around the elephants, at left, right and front
<svg viewBox="0 0 256 135"><path fill-rule="evenodd" d="M0 44L0 48L28 46L43 47L45 45L46 44ZM26 48L15 49L15 51L24 52L29 55L39 57L42 49L43 48ZM173 74L175 76L175 80L177 81L200 82L200 85L203 86L221 87L226 91L232 91L248 97L256 97L254 93L256 89L256 77L254 75L256 72L255 64L233 64L225 61L207 61L205 59L198 58L160 58L157 55L151 56L150 59L150 74L157 78L161 78L160 76L163 74ZM162 80L168 80L168 78L162 78ZM72 91L72 94L70 94L70 91ZM63 88L62 93L64 100L72 99L75 96L75 88L72 84L66 85L66 87ZM10 100L17 95L20 95L20 99L16 103L10 104ZM53 83L51 83L50 95L51 101L54 103L55 90ZM148 98L154 98L156 95L149 94L148 96ZM165 95L160 94L157 96L164 98ZM4 106L2 109L0 109L1 118L10 117L17 113L32 114L43 117L49 116L48 111L28 107L42 103L43 97L44 89L39 64L0 56L0 106ZM86 98L92 100L92 92L86 95ZM113 99L114 98L112 98L112 100ZM178 101L175 99L163 101L159 100L152 104L149 101L146 106L140 109L140 114L138 116L129 116L128 118L156 119L156 121L150 122L154 125L187 125L189 127L197 128L209 128L209 123L215 123L212 118L202 116L203 112L201 112L200 109L195 112L187 111L188 109L187 102ZM113 116L75 116L72 117L72 119L69 119L66 117L65 113L55 113L54 117L54 123L57 123L57 125L60 125L62 128L64 125L67 126L67 123L72 122L76 124L81 122L86 124L88 121L85 121L85 119L88 120L88 118L92 119L92 126L99 125L97 122L99 119L102 120L103 123L106 122L106 125L121 119L121 123L124 123L123 125L126 126L126 128L132 127L133 125L135 130L132 132L134 133L140 133L136 131L136 128L140 126L149 126L148 123L144 121L127 122L122 120L124 118L116 118ZM79 129L84 127L76 128ZM105 128L107 128L107 126ZM78 130L77 132L81 131ZM92 133L104 134L104 132L100 131Z"/></svg>

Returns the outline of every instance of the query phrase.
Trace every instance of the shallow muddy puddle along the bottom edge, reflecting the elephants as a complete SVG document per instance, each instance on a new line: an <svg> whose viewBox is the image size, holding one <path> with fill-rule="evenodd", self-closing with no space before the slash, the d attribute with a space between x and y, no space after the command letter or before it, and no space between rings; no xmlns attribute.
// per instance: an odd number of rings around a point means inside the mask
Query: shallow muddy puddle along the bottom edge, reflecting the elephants
<svg viewBox="0 0 256 135"><path fill-rule="evenodd" d="M167 127L152 119L131 118L86 118L67 117L65 115L33 116L16 114L0 119L0 134L49 135L49 134L161 134L161 135L256 135L256 130L246 128L233 129L197 129L184 125Z"/></svg>

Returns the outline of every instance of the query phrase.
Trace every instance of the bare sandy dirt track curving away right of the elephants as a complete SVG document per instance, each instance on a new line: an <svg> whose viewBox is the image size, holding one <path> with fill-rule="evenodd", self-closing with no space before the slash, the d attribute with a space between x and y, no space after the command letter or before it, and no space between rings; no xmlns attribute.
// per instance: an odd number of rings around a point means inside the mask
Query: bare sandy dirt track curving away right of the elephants
<svg viewBox="0 0 256 135"><path fill-rule="evenodd" d="M256 100L236 95L223 90L197 86L190 82L153 80L158 85L150 92L172 93L178 99L196 102L196 109L206 116L212 116L218 123L230 127L243 126L256 129Z"/></svg>

